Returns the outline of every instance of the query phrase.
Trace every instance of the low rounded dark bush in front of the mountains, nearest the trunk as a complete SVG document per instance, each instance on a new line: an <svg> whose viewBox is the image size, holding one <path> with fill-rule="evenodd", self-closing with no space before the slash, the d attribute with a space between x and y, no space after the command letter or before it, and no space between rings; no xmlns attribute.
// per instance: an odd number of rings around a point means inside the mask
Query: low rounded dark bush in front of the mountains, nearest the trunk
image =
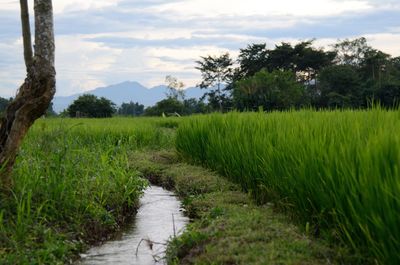
<svg viewBox="0 0 400 265"><path fill-rule="evenodd" d="M106 98L86 94L68 107L70 117L107 118L115 113L115 104Z"/></svg>

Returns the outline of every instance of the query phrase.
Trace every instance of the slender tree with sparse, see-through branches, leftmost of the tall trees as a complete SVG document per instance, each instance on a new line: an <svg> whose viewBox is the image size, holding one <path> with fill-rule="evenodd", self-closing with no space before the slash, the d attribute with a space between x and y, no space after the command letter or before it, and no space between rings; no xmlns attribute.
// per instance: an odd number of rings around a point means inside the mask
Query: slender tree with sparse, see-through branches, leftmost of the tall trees
<svg viewBox="0 0 400 265"><path fill-rule="evenodd" d="M200 70L203 79L199 84L200 88L210 89L209 92L205 93L209 104L214 109L222 111L223 105L228 101L222 88L232 80L233 61L229 53L222 54L219 57L201 57L201 60L196 61L196 63L198 65L196 69Z"/></svg>

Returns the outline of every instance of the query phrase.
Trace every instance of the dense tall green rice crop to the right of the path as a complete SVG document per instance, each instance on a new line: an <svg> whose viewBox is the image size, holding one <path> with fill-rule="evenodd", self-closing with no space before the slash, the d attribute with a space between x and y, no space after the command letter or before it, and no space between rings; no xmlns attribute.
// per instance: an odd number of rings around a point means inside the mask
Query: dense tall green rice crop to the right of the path
<svg viewBox="0 0 400 265"><path fill-rule="evenodd" d="M176 148L380 264L400 264L400 111L231 113L183 122Z"/></svg>

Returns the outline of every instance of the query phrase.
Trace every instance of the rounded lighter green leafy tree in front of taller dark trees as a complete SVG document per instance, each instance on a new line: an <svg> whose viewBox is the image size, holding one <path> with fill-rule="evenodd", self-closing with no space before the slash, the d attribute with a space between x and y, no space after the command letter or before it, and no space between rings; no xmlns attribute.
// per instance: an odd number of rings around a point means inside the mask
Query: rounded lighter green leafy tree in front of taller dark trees
<svg viewBox="0 0 400 265"><path fill-rule="evenodd" d="M284 110L299 107L304 88L289 71L262 70L235 84L233 99L238 109Z"/></svg>

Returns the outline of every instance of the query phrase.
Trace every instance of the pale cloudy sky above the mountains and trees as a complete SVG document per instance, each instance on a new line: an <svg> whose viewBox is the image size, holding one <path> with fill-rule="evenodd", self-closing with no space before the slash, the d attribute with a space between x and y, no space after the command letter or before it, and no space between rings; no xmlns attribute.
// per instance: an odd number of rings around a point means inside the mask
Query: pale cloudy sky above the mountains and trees
<svg viewBox="0 0 400 265"><path fill-rule="evenodd" d="M33 18L33 0L28 0ZM326 47L364 36L400 56L400 0L53 0L56 96L124 81L200 82L200 56L238 55L251 43L316 38ZM0 96L25 77L18 0L0 0ZM33 23L31 24L33 28ZM32 30L33 32L33 30Z"/></svg>

